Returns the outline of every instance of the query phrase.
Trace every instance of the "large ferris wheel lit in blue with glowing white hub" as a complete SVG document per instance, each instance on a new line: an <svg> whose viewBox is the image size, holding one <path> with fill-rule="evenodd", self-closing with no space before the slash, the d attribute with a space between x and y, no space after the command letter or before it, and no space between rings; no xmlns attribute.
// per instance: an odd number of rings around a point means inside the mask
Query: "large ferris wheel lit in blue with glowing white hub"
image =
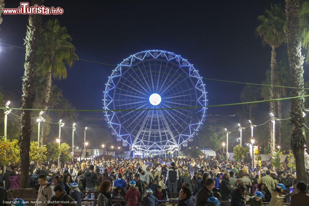
<svg viewBox="0 0 309 206"><path fill-rule="evenodd" d="M112 135L136 154L178 151L198 135L206 117L207 92L198 70L167 51L148 50L124 59L103 93Z"/></svg>

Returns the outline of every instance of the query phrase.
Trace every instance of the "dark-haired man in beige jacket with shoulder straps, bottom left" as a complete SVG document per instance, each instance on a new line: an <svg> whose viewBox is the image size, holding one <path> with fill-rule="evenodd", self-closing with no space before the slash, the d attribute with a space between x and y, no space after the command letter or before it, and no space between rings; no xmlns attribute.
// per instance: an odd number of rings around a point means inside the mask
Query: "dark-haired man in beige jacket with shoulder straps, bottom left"
<svg viewBox="0 0 309 206"><path fill-rule="evenodd" d="M39 192L36 198L36 206L46 206L47 201L55 195L53 189L54 187L47 182L47 178L45 174L39 175Z"/></svg>

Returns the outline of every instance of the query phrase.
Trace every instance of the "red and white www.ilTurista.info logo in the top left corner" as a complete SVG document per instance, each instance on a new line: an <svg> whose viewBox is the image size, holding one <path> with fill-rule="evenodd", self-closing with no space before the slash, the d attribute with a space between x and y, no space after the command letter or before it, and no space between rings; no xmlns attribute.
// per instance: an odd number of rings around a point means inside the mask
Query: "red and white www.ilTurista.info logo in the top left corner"
<svg viewBox="0 0 309 206"><path fill-rule="evenodd" d="M45 7L38 6L35 4L34 6L29 6L29 2L20 2L20 6L18 8L3 8L3 14L43 14L43 15L58 15L63 14L63 9L59 6L55 7Z"/></svg>

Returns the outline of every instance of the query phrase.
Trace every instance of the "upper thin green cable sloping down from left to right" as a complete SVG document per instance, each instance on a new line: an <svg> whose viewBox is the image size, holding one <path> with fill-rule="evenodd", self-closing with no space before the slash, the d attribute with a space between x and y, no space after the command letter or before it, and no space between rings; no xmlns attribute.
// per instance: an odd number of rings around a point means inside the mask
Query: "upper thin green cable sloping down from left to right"
<svg viewBox="0 0 309 206"><path fill-rule="evenodd" d="M0 43L6 46L11 46L11 47L16 47L16 48L22 48L22 49L26 49L24 47L19 47L19 46L15 46L15 45L11 45L11 44L4 44L4 43ZM38 50L34 50L36 52L40 52L40 53L45 53L45 54L52 54L52 53L48 53L48 52L42 52L42 51L38 51ZM52 54L55 56L60 56L59 54ZM75 58L75 57L69 57L71 59L75 59L75 60L80 60L80 61L87 61L87 62L92 62L92 63L96 63L96 64L103 64L103 65L108 65L108 66L118 66L118 65L112 65L112 64L107 64L107 63L103 63L103 62L98 62L98 61L91 61L91 60L86 60L86 59L79 59L79 58ZM133 67L130 67L132 69L136 69ZM159 71L150 71L150 70L146 70L146 69L137 69L137 70L143 70L143 71L147 71L147 72L155 72L155 73L161 73ZM162 72L163 74L167 74L167 75L171 75L165 72ZM178 74L174 74L173 76L184 76L187 77L186 75L178 75ZM219 81L219 82L230 82L230 83L238 83L238 84L251 84L251 85L258 85L258 86L274 86L274 87L281 87L281 88L291 88L291 89L309 89L309 88L301 88L301 87L292 87L292 86L277 86L277 85L268 85L268 84L256 84L256 83L249 83L249 82L236 82L236 81L229 81L229 80L222 80L222 79L211 79L211 78L202 78L201 79L207 79L207 80L211 80L211 81Z"/></svg>

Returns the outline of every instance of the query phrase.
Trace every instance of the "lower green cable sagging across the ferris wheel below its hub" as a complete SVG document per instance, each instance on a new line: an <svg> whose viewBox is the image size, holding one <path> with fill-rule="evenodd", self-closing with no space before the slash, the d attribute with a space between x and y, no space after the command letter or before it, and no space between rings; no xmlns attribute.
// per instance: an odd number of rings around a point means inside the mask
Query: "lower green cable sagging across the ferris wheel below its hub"
<svg viewBox="0 0 309 206"><path fill-rule="evenodd" d="M242 104L252 104L252 103L263 103L263 102L271 102L271 101L278 101L278 100L286 100L286 99L296 99L296 98L303 98L309 97L309 95L302 95L297 97L285 97L279 99L266 99L260 101L252 101L252 102L239 102L239 103L230 103L230 104L217 104L217 105L208 105L208 106L197 106L197 107L171 107L171 108L153 108L153 109L114 109L114 110L83 110L83 109L22 109L22 108L7 108L7 107L0 107L0 109L11 109L11 110L31 110L31 111L148 111L148 110L170 110L170 109L193 109L193 108L204 108L204 107L222 107L222 106L232 106L232 105L242 105Z"/></svg>

